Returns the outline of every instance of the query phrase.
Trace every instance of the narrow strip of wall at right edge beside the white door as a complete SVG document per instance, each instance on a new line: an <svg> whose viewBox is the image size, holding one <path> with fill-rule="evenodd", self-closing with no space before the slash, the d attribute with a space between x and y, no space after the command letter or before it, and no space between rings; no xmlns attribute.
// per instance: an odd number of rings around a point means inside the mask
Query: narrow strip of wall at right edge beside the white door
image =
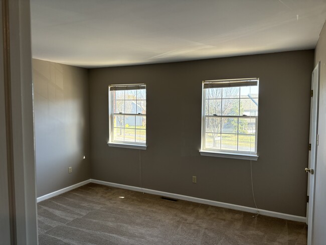
<svg viewBox="0 0 326 245"><path fill-rule="evenodd" d="M324 244L326 241L326 26L324 25L315 49L315 65L320 61L319 85L319 145L315 168L315 208L313 223L313 244Z"/></svg>

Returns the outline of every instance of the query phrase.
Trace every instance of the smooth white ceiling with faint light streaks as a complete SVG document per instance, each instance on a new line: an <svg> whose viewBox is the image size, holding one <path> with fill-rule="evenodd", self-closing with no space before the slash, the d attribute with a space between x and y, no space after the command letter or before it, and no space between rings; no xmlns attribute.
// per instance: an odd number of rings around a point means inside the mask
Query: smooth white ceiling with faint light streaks
<svg viewBox="0 0 326 245"><path fill-rule="evenodd" d="M33 58L81 67L313 49L326 0L31 0Z"/></svg>

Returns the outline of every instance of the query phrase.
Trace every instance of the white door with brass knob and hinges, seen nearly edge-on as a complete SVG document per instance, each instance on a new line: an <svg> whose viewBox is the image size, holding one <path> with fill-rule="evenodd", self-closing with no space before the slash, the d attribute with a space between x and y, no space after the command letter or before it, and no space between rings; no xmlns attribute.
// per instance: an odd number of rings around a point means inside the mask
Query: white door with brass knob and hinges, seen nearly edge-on
<svg viewBox="0 0 326 245"><path fill-rule="evenodd" d="M314 188L315 188L315 166L317 159L317 147L318 147L318 104L319 104L319 69L320 62L312 71L311 75L311 109L310 109L310 144L311 151L309 152L309 163L305 171L308 173L308 211L307 211L307 223L308 223L308 239L307 244L312 245L313 234L313 208L314 208Z"/></svg>

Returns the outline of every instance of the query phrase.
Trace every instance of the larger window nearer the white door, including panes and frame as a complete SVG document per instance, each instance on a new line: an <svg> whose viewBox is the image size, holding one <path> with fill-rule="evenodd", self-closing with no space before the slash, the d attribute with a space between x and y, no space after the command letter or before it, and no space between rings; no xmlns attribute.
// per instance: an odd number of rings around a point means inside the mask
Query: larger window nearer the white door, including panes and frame
<svg viewBox="0 0 326 245"><path fill-rule="evenodd" d="M258 78L203 82L201 155L257 160Z"/></svg>

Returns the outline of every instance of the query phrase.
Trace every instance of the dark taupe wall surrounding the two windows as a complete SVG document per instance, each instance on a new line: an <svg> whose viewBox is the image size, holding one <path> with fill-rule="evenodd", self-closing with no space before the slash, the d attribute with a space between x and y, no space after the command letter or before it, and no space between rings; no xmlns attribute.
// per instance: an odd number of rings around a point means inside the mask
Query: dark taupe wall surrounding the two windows
<svg viewBox="0 0 326 245"><path fill-rule="evenodd" d="M202 80L260 78L259 208L306 215L313 50L89 70L91 177L253 207L250 161L202 157ZM147 150L109 148L108 85L147 85ZM197 184L192 176L197 176Z"/></svg>

